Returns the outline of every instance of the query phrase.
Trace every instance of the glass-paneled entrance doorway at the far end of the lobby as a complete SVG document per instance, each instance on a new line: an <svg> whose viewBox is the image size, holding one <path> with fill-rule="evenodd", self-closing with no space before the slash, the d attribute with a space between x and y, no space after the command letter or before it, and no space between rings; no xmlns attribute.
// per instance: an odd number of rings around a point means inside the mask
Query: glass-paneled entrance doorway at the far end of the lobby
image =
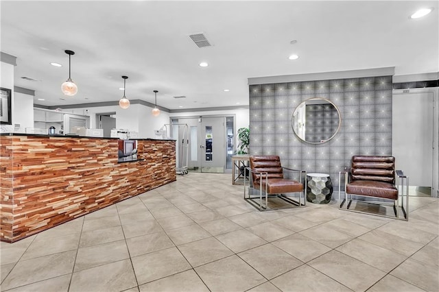
<svg viewBox="0 0 439 292"><path fill-rule="evenodd" d="M187 156L189 171L207 173L227 171L228 152L230 146L233 147L233 143L228 143L230 133L233 140L233 130L228 128L233 128L233 117L185 117L174 118L171 121L172 136L178 142L177 154ZM180 141L187 141L187 145L184 143L180 145ZM187 152L182 152L180 149L182 147L187 147ZM181 160L180 157L177 159ZM182 161L185 159L183 157Z"/></svg>

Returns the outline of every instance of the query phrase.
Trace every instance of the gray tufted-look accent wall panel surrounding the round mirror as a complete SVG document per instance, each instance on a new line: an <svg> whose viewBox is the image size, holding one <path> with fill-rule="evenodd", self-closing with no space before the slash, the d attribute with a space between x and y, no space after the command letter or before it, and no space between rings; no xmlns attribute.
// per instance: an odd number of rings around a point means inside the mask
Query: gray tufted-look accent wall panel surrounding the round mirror
<svg viewBox="0 0 439 292"><path fill-rule="evenodd" d="M307 172L338 172L353 155L392 154L392 76L253 84L250 95L250 154L277 154L283 165ZM323 97L340 110L335 137L321 145L300 141L292 114L305 99Z"/></svg>

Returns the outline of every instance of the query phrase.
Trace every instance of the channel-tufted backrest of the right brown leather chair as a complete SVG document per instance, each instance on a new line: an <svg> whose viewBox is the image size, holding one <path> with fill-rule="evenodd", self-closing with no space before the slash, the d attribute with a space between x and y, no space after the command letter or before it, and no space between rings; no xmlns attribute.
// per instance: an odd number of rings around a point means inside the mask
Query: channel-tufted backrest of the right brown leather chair
<svg viewBox="0 0 439 292"><path fill-rule="evenodd" d="M353 156L351 179L394 184L395 158L393 156Z"/></svg>

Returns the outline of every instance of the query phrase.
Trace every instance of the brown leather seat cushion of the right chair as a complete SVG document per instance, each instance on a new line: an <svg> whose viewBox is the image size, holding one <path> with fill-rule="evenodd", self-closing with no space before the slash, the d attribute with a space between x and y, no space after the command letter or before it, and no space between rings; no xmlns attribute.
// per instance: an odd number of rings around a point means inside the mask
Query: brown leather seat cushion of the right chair
<svg viewBox="0 0 439 292"><path fill-rule="evenodd" d="M383 199L398 199L398 190L394 184L376 182L374 180L355 180L346 185L346 193L351 195L366 195Z"/></svg>

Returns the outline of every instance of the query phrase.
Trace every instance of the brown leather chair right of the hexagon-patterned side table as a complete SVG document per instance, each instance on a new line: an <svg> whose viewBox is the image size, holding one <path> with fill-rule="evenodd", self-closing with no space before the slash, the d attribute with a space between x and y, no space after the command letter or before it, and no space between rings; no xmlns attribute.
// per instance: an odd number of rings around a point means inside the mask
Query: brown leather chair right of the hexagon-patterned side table
<svg viewBox="0 0 439 292"><path fill-rule="evenodd" d="M342 208L346 202L347 206L344 210L350 210L349 208L351 207L351 203L353 201L357 201L357 199L353 198L353 195L361 197L373 197L377 199L375 202L373 202L373 204L384 205L385 202L391 201L393 203L392 205L396 218L399 218L399 189L396 188L396 178L398 181L401 181L402 197L404 196L403 180L405 180L407 184L405 191L406 204L404 208L403 202L401 202L401 209L403 210L405 219L408 220L408 178L403 174L402 171L395 170L395 158L393 156L353 156L351 168L348 169L348 171L341 171L340 179L342 173L345 175L345 197L340 204L340 208ZM341 184L342 180L339 180L339 182ZM361 212L361 210L353 211Z"/></svg>

